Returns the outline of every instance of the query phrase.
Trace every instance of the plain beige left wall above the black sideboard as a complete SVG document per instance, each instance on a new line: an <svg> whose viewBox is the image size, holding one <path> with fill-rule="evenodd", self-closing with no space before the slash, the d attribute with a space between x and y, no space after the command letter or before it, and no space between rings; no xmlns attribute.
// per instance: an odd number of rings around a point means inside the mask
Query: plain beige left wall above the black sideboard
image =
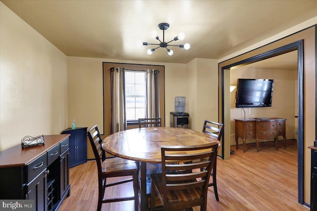
<svg viewBox="0 0 317 211"><path fill-rule="evenodd" d="M0 151L67 120L66 55L0 2Z"/></svg>

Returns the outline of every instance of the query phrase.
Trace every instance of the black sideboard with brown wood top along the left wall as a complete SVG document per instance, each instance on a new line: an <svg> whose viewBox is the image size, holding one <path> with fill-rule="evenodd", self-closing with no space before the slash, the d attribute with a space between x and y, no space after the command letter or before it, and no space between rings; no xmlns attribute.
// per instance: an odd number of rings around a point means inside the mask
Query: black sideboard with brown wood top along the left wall
<svg viewBox="0 0 317 211"><path fill-rule="evenodd" d="M45 145L0 152L0 199L34 200L35 211L58 210L70 194L69 134L44 135Z"/></svg>

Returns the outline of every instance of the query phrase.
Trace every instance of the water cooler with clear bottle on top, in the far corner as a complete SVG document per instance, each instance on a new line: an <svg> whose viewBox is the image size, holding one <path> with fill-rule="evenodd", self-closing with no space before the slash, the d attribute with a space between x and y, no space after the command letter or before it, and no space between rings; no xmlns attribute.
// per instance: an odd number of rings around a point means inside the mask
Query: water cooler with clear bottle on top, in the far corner
<svg viewBox="0 0 317 211"><path fill-rule="evenodd" d="M189 128L189 114L186 110L186 98L175 97L175 112L170 112L170 127Z"/></svg>

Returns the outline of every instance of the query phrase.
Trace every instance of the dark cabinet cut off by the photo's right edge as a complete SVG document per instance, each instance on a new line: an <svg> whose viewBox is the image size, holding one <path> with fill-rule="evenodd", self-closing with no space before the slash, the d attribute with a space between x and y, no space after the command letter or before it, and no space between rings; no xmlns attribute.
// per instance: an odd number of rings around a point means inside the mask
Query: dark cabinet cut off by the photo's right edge
<svg viewBox="0 0 317 211"><path fill-rule="evenodd" d="M311 211L317 211L317 147L312 149L312 167L311 167Z"/></svg>

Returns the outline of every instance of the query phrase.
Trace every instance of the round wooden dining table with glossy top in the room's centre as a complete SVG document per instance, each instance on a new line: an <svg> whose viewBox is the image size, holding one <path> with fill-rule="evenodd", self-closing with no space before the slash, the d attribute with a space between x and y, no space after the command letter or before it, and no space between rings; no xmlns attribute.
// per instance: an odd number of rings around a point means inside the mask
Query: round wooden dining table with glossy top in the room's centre
<svg viewBox="0 0 317 211"><path fill-rule="evenodd" d="M148 210L151 194L150 174L161 168L163 145L190 146L219 141L204 132L179 127L143 127L113 133L103 140L103 148L111 155L139 162L140 210Z"/></svg>

